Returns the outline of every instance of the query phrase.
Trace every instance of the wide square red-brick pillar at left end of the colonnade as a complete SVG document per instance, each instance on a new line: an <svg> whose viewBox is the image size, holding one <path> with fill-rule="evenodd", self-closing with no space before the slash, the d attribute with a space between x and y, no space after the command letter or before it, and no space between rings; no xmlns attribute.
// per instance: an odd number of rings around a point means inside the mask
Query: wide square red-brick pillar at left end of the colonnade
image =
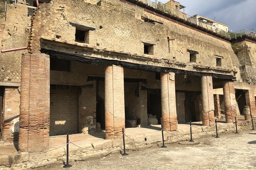
<svg viewBox="0 0 256 170"><path fill-rule="evenodd" d="M20 151L42 151L49 147L50 58L25 54L21 58Z"/></svg>

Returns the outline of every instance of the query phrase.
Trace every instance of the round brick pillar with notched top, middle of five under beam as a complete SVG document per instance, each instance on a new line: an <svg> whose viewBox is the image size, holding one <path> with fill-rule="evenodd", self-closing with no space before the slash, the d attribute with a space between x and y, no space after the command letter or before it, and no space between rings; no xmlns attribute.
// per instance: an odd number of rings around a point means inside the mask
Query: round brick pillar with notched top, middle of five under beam
<svg viewBox="0 0 256 170"><path fill-rule="evenodd" d="M161 72L161 108L163 129L177 130L175 73Z"/></svg>

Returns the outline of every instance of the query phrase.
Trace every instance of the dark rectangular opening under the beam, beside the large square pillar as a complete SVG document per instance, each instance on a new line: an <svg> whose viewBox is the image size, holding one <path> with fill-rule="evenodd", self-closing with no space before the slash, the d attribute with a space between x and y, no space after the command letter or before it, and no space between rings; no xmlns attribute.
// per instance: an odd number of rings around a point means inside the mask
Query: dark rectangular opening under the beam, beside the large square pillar
<svg viewBox="0 0 256 170"><path fill-rule="evenodd" d="M50 58L50 70L70 72L70 61L59 58Z"/></svg>

